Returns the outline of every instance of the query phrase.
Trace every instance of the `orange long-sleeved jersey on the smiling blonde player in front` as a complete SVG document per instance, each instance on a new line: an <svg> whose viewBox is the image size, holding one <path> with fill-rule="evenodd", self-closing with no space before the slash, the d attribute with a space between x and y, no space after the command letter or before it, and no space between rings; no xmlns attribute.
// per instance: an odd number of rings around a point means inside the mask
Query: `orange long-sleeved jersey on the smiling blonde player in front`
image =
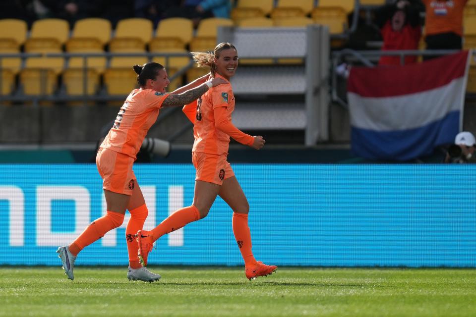
<svg viewBox="0 0 476 317"><path fill-rule="evenodd" d="M225 79L218 74L215 77ZM196 102L187 106L194 105L196 105L195 117L187 115L194 123L195 142L192 152L228 154L230 136L242 144L253 144L252 136L239 131L231 123L232 113L235 110L235 96L230 83L210 88ZM185 109L184 112L187 113Z"/></svg>

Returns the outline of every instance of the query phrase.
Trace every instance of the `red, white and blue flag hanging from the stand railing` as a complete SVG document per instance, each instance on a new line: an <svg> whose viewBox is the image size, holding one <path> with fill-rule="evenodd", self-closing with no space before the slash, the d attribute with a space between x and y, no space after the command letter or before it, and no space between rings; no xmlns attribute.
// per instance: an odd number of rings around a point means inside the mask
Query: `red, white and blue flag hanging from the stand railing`
<svg viewBox="0 0 476 317"><path fill-rule="evenodd" d="M408 161L453 143L462 129L472 53L422 63L353 67L348 80L355 155Z"/></svg>

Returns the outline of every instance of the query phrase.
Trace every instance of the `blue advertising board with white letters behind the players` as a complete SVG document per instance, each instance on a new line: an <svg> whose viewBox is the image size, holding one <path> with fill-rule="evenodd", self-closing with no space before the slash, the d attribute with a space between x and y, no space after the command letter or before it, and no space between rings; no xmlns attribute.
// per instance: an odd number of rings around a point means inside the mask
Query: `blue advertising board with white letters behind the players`
<svg viewBox="0 0 476 317"><path fill-rule="evenodd" d="M235 164L258 260L309 266L476 266L475 165ZM191 164L137 164L145 228L191 204ZM105 210L94 164L0 164L0 264L60 265L55 253ZM77 265L126 265L125 225ZM242 265L232 211L157 241L150 264Z"/></svg>

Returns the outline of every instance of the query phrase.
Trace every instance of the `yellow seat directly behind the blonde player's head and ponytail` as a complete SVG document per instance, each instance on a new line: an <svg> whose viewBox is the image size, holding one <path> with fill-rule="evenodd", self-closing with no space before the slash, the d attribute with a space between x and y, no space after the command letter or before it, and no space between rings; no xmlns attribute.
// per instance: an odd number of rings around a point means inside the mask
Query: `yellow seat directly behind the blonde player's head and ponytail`
<svg viewBox="0 0 476 317"><path fill-rule="evenodd" d="M196 36L190 42L190 51L213 51L217 46L217 29L219 26L233 26L231 19L207 18L200 21Z"/></svg>

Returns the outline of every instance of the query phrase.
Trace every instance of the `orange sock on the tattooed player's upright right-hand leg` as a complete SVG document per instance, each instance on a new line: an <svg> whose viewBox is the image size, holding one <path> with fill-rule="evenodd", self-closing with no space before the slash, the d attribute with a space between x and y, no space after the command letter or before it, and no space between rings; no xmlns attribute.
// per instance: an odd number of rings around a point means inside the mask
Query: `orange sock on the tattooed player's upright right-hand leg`
<svg viewBox="0 0 476 317"><path fill-rule="evenodd" d="M141 230L145 219L149 214L147 206L144 204L136 209L130 210L130 219L125 228L125 241L127 244L127 252L129 253L129 266L132 268L140 268L142 265L137 258L138 244L134 235L137 230Z"/></svg>

